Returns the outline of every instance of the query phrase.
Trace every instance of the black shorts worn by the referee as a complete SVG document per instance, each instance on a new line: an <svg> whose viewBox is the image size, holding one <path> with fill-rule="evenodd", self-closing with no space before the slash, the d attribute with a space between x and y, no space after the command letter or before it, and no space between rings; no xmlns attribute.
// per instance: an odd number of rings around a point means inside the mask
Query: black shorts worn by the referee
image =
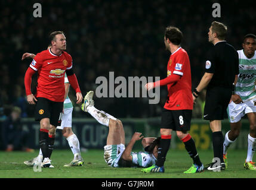
<svg viewBox="0 0 256 190"><path fill-rule="evenodd" d="M211 87L206 91L205 109L203 119L205 120L223 120L227 112L232 96L232 89L225 87Z"/></svg>

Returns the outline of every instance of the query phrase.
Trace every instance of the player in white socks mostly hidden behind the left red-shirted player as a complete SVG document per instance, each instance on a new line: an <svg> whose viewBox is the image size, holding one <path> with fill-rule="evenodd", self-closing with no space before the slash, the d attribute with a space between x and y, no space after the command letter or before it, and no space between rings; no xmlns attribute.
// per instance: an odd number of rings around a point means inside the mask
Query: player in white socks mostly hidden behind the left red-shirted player
<svg viewBox="0 0 256 190"><path fill-rule="evenodd" d="M26 58L34 58L35 54L33 53L24 53L22 56L22 60ZM69 80L67 79L67 75L65 74L64 78L64 85L65 85L65 95L64 95L64 105L63 105L63 115L61 118L61 126L57 126L57 129L62 130L63 137L66 138L66 140L69 143L69 146L72 150L72 153L74 154L73 160L69 164L65 164L64 166L83 166L84 160L81 156L80 146L79 146L79 140L76 137L76 135L72 131L72 111L73 111L73 105L72 102L69 99L69 96L67 94L69 93ZM52 131L52 133L55 135L55 131ZM39 150L39 154L37 157L24 161L24 164L27 166L33 166L34 164L38 165L38 163L42 162L42 151L41 148ZM54 167L51 165L50 167Z"/></svg>

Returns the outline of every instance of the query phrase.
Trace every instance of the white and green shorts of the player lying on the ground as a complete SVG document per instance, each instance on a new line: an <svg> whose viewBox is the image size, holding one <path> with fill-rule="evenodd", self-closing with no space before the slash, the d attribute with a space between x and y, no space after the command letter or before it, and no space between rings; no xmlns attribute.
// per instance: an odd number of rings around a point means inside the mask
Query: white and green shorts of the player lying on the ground
<svg viewBox="0 0 256 190"><path fill-rule="evenodd" d="M125 151L124 144L104 146L104 160L111 167L119 167L119 160Z"/></svg>

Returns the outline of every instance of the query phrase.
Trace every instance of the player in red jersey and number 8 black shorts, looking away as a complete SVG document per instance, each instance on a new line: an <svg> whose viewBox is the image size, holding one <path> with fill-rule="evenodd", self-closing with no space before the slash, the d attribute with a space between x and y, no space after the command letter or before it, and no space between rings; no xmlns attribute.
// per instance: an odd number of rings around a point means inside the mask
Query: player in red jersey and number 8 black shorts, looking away
<svg viewBox="0 0 256 190"><path fill-rule="evenodd" d="M197 173L203 170L195 142L188 132L193 110L192 82L189 56L180 46L182 39L183 34L177 27L170 26L165 29L165 46L171 52L167 64L167 77L156 83L145 85L147 90L167 85L168 99L162 111L158 161L155 166L143 169L143 172L164 172L164 162L171 144L172 130L176 131L177 137L183 141L187 152L193 159L192 167L184 173Z"/></svg>

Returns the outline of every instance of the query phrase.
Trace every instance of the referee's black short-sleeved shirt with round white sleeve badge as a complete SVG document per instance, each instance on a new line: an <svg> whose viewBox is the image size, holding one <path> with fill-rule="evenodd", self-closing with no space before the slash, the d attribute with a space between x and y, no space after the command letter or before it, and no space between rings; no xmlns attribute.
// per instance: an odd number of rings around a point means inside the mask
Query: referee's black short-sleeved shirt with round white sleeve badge
<svg viewBox="0 0 256 190"><path fill-rule="evenodd" d="M226 41L218 42L209 52L205 72L214 73L209 87L231 88L235 75L239 74L239 58L236 49Z"/></svg>

